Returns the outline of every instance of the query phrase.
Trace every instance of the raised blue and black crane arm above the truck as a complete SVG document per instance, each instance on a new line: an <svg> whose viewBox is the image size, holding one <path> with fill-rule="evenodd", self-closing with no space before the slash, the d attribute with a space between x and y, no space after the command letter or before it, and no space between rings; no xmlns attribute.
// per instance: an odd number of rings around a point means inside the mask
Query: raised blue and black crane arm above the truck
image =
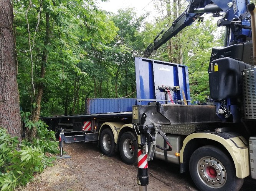
<svg viewBox="0 0 256 191"><path fill-rule="evenodd" d="M239 2L237 0L232 2L229 0L190 0L187 9L173 21L172 26L167 31L162 30L155 37L154 41L146 48L144 56L149 57L154 50L159 49L159 47L182 31L182 29L191 25L196 19L203 20L201 16L204 13L213 13L214 16L220 16L219 13L223 13L222 18L219 19L217 24L218 26L227 27L228 32L226 32L225 46L230 45L231 41L234 40L234 36L241 34L250 36L250 26L248 26L250 25L249 15L246 15L246 5L248 4L249 0ZM241 18L241 15L243 15L243 18ZM243 29L247 31L244 32Z"/></svg>

